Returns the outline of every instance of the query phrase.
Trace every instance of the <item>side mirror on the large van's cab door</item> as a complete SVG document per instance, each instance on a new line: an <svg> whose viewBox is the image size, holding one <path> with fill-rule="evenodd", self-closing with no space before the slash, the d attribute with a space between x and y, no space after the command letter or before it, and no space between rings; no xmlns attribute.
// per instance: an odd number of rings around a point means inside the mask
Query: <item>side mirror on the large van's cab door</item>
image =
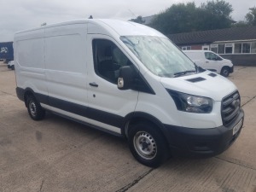
<svg viewBox="0 0 256 192"><path fill-rule="evenodd" d="M119 68L118 88L119 90L129 90L134 82L134 70L131 66Z"/></svg>

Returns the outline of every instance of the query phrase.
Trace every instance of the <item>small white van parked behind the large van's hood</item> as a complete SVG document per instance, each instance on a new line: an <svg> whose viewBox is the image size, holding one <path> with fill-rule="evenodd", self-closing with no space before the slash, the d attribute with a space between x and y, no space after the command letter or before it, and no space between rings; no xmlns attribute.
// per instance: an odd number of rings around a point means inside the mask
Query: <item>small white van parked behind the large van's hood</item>
<svg viewBox="0 0 256 192"><path fill-rule="evenodd" d="M228 77L233 73L233 64L211 50L183 50L199 67Z"/></svg>

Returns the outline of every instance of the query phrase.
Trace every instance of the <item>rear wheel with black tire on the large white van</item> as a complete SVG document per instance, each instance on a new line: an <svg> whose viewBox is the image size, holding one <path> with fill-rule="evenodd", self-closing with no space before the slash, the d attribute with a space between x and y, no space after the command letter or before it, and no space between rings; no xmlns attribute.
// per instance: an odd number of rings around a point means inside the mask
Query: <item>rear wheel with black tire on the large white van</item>
<svg viewBox="0 0 256 192"><path fill-rule="evenodd" d="M30 117L34 120L44 119L45 111L41 107L40 103L37 101L35 96L27 96L26 108Z"/></svg>

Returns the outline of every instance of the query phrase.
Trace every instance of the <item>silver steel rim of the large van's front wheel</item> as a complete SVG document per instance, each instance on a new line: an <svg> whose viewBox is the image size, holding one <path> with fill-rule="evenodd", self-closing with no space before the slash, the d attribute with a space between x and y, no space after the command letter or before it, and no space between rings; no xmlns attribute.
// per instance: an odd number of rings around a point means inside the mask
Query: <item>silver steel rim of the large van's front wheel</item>
<svg viewBox="0 0 256 192"><path fill-rule="evenodd" d="M139 131L133 138L133 145L137 154L139 154L143 159L152 160L157 154L157 146L152 137L146 131Z"/></svg>

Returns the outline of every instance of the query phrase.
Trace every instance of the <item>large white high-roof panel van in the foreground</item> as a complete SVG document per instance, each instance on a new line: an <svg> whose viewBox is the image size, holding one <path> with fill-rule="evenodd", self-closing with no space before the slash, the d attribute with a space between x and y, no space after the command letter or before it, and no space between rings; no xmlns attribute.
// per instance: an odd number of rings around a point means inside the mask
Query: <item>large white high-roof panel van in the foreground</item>
<svg viewBox="0 0 256 192"><path fill-rule="evenodd" d="M236 85L202 70L160 32L119 20L73 20L15 33L16 93L45 111L128 140L146 166L212 156L241 132Z"/></svg>

